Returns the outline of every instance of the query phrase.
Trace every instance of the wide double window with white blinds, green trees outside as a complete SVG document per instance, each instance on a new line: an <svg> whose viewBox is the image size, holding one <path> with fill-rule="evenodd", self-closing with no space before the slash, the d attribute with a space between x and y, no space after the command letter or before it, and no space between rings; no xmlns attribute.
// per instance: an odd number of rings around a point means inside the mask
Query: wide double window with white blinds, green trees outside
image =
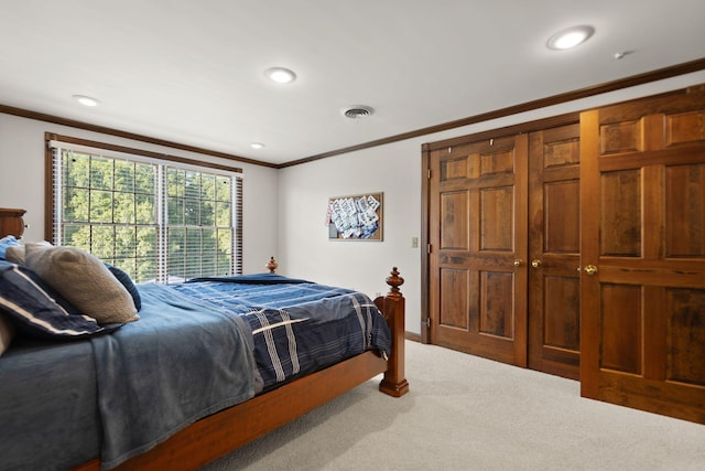
<svg viewBox="0 0 705 471"><path fill-rule="evenodd" d="M93 144L50 142L54 244L84 248L135 282L242 272L238 174Z"/></svg>

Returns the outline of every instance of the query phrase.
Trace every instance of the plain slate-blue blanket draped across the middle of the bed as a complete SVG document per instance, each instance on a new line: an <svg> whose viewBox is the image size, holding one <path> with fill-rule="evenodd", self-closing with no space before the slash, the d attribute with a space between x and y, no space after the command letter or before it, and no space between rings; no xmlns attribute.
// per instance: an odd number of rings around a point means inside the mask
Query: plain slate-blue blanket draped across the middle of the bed
<svg viewBox="0 0 705 471"><path fill-rule="evenodd" d="M104 469L254 395L251 346L238 315L162 285L143 285L140 295L138 322L91 339Z"/></svg>

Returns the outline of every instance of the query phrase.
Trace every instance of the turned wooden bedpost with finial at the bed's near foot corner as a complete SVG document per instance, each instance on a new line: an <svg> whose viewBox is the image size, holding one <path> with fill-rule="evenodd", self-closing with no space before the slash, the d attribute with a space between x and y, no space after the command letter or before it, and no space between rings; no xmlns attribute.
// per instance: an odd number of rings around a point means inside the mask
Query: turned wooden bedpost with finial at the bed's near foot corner
<svg viewBox="0 0 705 471"><path fill-rule="evenodd" d="M409 383L404 377L404 341L406 340L404 318L406 314L404 297L399 290L404 279L399 276L399 271L394 267L386 281L391 289L383 298L377 298L375 303L384 314L392 331L392 350L387 362L388 370L379 385L379 390L390 396L401 397L409 393Z"/></svg>

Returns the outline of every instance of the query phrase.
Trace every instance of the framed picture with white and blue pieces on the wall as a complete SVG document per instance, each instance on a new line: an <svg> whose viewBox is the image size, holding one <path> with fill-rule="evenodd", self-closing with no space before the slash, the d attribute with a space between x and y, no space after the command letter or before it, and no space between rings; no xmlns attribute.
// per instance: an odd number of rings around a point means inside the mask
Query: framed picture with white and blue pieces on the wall
<svg viewBox="0 0 705 471"><path fill-rule="evenodd" d="M326 224L332 240L382 240L383 193L328 199Z"/></svg>

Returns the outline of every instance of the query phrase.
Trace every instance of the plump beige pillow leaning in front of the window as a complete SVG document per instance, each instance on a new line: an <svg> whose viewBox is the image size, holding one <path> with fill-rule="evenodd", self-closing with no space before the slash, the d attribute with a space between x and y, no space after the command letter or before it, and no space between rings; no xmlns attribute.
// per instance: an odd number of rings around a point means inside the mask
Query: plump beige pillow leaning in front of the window
<svg viewBox="0 0 705 471"><path fill-rule="evenodd" d="M139 319L128 290L102 261L85 250L29 243L24 265L100 324Z"/></svg>

